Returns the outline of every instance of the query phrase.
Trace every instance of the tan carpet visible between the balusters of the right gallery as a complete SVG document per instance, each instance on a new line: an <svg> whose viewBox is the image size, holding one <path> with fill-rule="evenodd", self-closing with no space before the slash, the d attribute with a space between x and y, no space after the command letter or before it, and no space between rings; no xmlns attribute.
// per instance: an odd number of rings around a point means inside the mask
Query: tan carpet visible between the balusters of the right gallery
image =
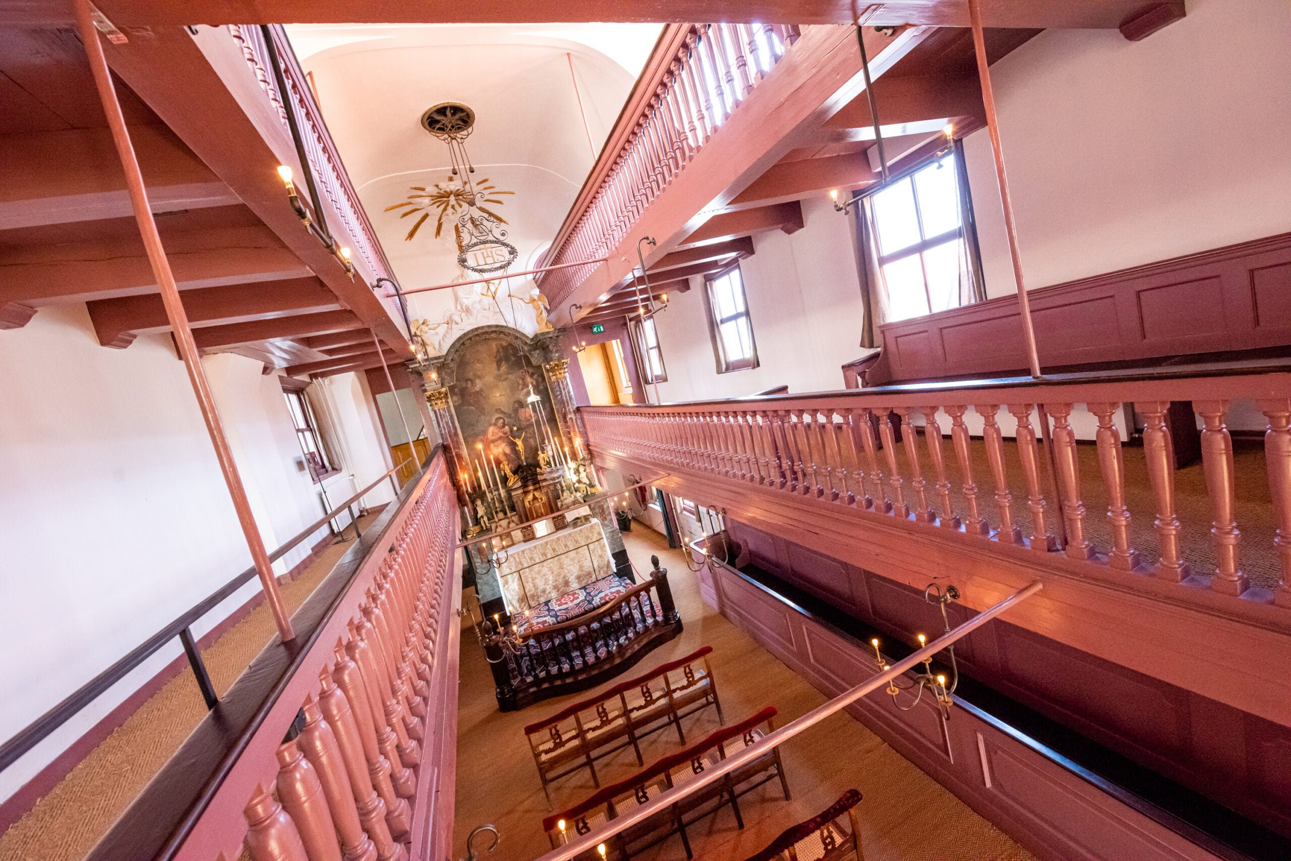
<svg viewBox="0 0 1291 861"><path fill-rule="evenodd" d="M935 488L935 475L932 465L927 460L927 448L923 432L919 434L919 456L923 467L923 478L928 485L926 494L928 505L941 514L941 503ZM1237 528L1242 533L1241 538L1241 567L1246 572L1252 585L1273 587L1278 582L1279 562L1273 547L1273 538L1277 524L1274 522L1273 503L1269 498L1269 478L1264 466L1264 443L1256 440L1234 440L1234 488L1237 505ZM897 445L897 463L902 476L909 475L909 462L905 460L905 444ZM963 479L959 463L955 458L954 448L949 436L942 443L946 458L946 480L950 481L950 505L954 514L964 516L967 506L963 500ZM1108 493L1103 483L1103 472L1099 469L1097 447L1092 443L1081 443L1075 447L1079 461L1081 496L1084 503L1084 531L1086 537L1093 543L1099 552L1106 552L1112 547L1112 528L1108 520ZM990 475L990 465L986 461L986 447L980 439L972 440L972 474L977 485L977 510L986 519L991 529L999 527L999 511L995 507L994 484ZM1130 509L1130 546L1139 551L1140 564L1154 565L1161 558L1161 543L1153 520L1157 516L1157 502L1148 481L1148 467L1144 461L1143 448L1126 445L1124 453L1124 484L1126 507ZM1042 454L1043 457L1043 454ZM1022 467L1017 458L1017 445L1011 439L1004 440L1004 463L1008 474L1008 489L1012 494L1013 523L1022 529L1022 536L1032 537L1033 519L1026 501L1026 481L1022 478ZM883 467L886 470L886 466ZM1044 488L1044 520L1050 534L1059 534L1057 518L1059 506L1053 501L1056 497L1044 474L1043 461L1041 463L1041 483ZM1206 475L1201 461L1176 470L1175 474L1175 506L1179 522L1183 524L1180 546L1184 559L1192 567L1192 572L1201 577L1208 577L1215 571L1215 546L1211 542L1211 505L1206 494ZM874 493L874 485L869 485L869 492ZM915 507L915 496L910 487L909 478L902 485L905 502L911 511ZM1148 568L1150 571L1150 568Z"/></svg>

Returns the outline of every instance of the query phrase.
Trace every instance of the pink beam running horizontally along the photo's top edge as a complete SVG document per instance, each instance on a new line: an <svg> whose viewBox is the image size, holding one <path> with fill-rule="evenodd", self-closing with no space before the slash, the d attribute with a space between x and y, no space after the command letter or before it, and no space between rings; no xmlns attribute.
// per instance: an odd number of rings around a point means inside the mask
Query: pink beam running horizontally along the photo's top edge
<svg viewBox="0 0 1291 861"><path fill-rule="evenodd" d="M753 23L793 21L803 25L851 23L846 0L696 0L658 3L624 0L485 0L469 6L445 6L407 0L98 0L96 4L117 27L253 23L540 23L565 22L667 22L729 21ZM986 27L1079 27L1115 30L1154 6L1183 14L1183 0L982 0ZM963 0L887 0L871 8L873 25L933 25L967 27ZM1159 14L1159 13L1158 13ZM9 26L67 26L70 10L58 0L10 4L0 23ZM1174 18L1171 18L1174 19Z"/></svg>

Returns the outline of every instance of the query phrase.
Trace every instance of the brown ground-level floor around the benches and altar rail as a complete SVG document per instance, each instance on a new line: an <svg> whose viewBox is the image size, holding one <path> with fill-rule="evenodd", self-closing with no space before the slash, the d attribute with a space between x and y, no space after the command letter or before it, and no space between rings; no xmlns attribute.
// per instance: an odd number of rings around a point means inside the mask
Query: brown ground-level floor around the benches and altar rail
<svg viewBox="0 0 1291 861"><path fill-rule="evenodd" d="M669 569L669 585L686 623L679 638L651 652L629 670L630 674L707 644L714 649L710 660L728 722L775 705L780 710L777 725L784 725L825 701L806 680L704 603L696 576L675 550L667 549L662 536L638 524L624 540L639 571L648 571L649 555L658 554L660 564ZM466 834L473 827L492 822L498 826L501 842L489 858L534 858L550 848L542 831L542 818L550 811L523 727L591 692L501 714L488 666L469 629L462 633L461 660L453 857L465 855ZM718 725L715 713L705 710L687 719L687 737L700 738ZM651 763L676 751L679 745L675 734L660 732L642 747L646 762ZM689 835L697 858L744 858L789 825L815 816L851 787L865 796L859 809L866 861L1032 858L999 829L846 714L834 715L786 742L782 756L793 800L785 802L778 784L772 782L740 799L744 830L736 827L729 808L696 824ZM635 768L630 749L596 765L604 782L626 777ZM594 786L585 771L553 786L558 805L577 803L591 791ZM634 857L683 861L686 853L680 839L673 836Z"/></svg>

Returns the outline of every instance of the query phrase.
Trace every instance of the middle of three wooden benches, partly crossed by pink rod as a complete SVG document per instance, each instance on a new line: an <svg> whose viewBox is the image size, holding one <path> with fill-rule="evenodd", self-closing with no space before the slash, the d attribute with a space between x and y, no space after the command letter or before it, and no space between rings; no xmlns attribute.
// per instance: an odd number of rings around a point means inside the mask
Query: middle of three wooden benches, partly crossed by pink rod
<svg viewBox="0 0 1291 861"><path fill-rule="evenodd" d="M542 820L542 827L551 840L553 848L559 848L572 839L604 827L620 813L655 799L667 790L701 775L728 755L757 744L775 729L775 706L767 706L751 718L731 727L723 727L704 741L675 754L664 756L636 775L617 784L604 786L585 800ZM679 834L686 857L693 858L691 840L686 829L706 816L731 805L736 825L744 827L740 813L740 796L763 784L780 780L785 800L789 800L789 781L780 760L780 749L772 747L764 755L745 763L724 775L722 780L687 795L675 804L655 816L635 822L607 840L607 857L626 858L634 852L642 852L673 834ZM596 853L587 853L595 858Z"/></svg>

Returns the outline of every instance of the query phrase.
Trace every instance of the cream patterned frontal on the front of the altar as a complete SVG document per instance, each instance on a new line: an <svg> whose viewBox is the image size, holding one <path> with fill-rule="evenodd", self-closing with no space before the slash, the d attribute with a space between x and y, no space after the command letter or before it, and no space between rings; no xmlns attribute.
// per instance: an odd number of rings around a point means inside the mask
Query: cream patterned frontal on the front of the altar
<svg viewBox="0 0 1291 861"><path fill-rule="evenodd" d="M612 571L605 536L600 523L593 520L516 545L498 565L498 577L507 612L514 616L582 589Z"/></svg>

